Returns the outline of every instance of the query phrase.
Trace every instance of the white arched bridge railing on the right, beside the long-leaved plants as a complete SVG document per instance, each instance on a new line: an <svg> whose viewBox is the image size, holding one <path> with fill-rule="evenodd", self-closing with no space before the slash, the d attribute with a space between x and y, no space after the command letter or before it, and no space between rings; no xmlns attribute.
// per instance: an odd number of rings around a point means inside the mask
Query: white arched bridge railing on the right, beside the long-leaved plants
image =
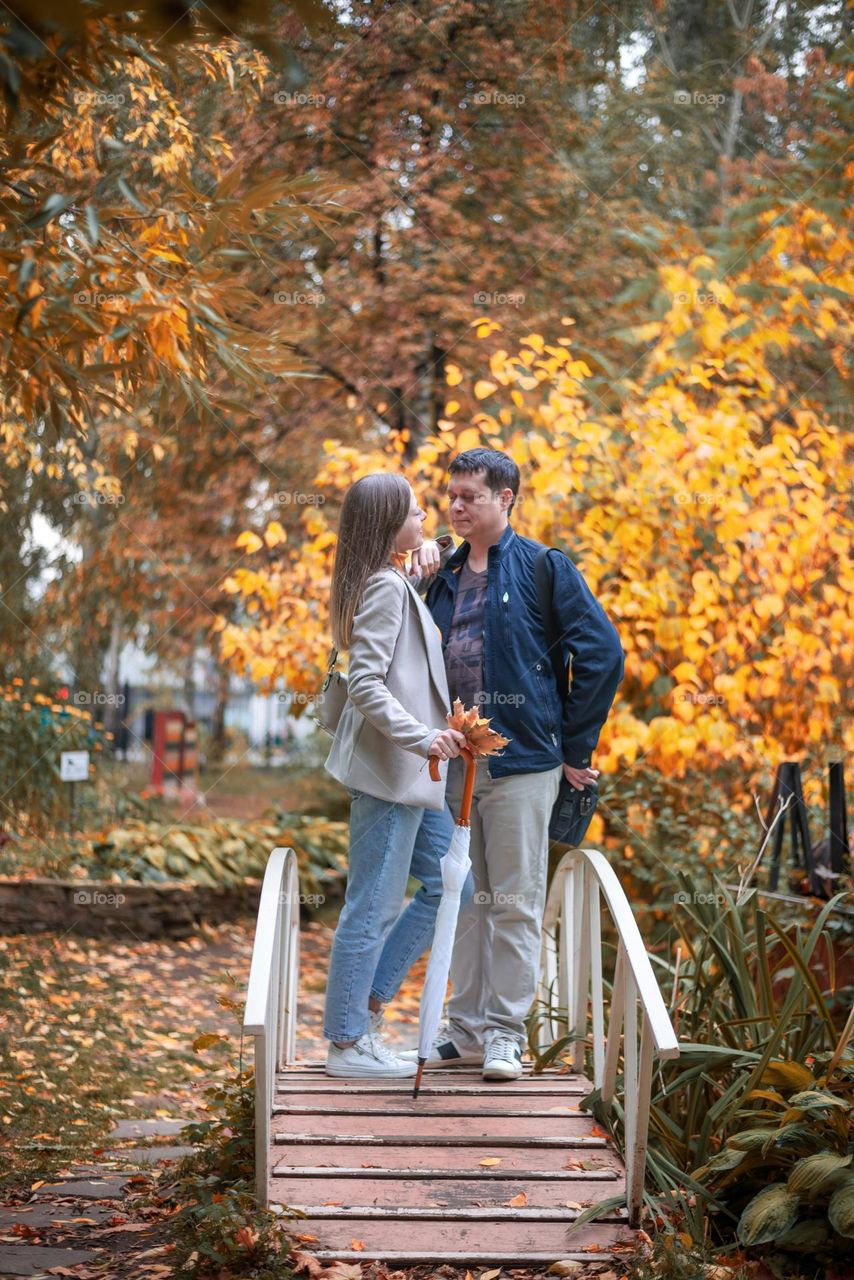
<svg viewBox="0 0 854 1280"><path fill-rule="evenodd" d="M618 938L607 1034L603 905ZM590 1039L593 1084L603 1102L615 1096L622 1038L626 1204L629 1222L639 1226L653 1057L679 1057L679 1041L629 899L598 850L571 849L554 872L543 919L539 998L548 1009L539 1027L539 1052L561 1036L572 1036L572 1069L584 1073L585 1041Z"/></svg>

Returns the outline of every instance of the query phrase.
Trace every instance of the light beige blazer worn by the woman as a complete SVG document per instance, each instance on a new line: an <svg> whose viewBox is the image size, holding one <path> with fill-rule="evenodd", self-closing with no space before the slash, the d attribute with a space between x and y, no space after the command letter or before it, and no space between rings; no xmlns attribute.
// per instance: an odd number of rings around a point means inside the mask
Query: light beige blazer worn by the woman
<svg viewBox="0 0 854 1280"><path fill-rule="evenodd" d="M429 746L448 727L451 709L442 640L412 581L391 566L365 584L347 691L326 771L382 800L442 809L448 765L439 763L440 782L428 765Z"/></svg>

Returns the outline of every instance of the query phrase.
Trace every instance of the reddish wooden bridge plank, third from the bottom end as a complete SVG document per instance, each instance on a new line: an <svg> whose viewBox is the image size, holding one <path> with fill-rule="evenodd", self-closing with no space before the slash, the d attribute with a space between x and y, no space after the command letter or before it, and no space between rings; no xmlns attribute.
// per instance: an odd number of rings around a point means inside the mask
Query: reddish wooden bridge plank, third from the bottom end
<svg viewBox="0 0 854 1280"><path fill-rule="evenodd" d="M567 1149L565 1144L530 1149L526 1146L511 1147L506 1143L495 1142L490 1146L478 1148L463 1144L460 1147L447 1147L442 1151L419 1143L415 1146L407 1146L406 1143L339 1144L334 1142L319 1143L314 1138L303 1138L301 1142L293 1143L287 1152L282 1149L279 1158L277 1158L278 1149L280 1148L274 1148L271 1152L274 1174L279 1169L298 1166L316 1170L323 1169L330 1175L339 1169L361 1167L370 1170L406 1170L407 1174L421 1169L430 1170L433 1176L439 1176L437 1166L440 1166L448 1175L466 1172L467 1176L480 1176L484 1170L489 1170L490 1175L494 1175L497 1170L504 1172L508 1170L525 1171L531 1172L531 1175L535 1170L542 1172L560 1170L581 1176L593 1171L612 1171L622 1175L622 1166L617 1153L612 1148L609 1149L606 1143L600 1143L598 1149L583 1148L572 1151ZM501 1165L481 1165L480 1161L485 1158L501 1160ZM576 1165L592 1165L593 1169L567 1169L567 1162L570 1161ZM371 1172L371 1176L374 1176L374 1172ZM376 1176L380 1175L376 1174Z"/></svg>

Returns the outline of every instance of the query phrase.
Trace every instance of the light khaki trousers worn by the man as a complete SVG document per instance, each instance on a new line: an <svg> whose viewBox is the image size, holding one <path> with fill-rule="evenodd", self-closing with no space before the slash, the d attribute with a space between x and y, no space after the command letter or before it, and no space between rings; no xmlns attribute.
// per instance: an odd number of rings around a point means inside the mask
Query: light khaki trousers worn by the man
<svg viewBox="0 0 854 1280"><path fill-rule="evenodd" d="M490 778L476 763L471 804L474 897L460 911L451 959L451 1037L476 1052L495 1034L528 1044L525 1016L539 979L548 876L548 822L562 767ZM460 815L465 762L448 763L446 799Z"/></svg>

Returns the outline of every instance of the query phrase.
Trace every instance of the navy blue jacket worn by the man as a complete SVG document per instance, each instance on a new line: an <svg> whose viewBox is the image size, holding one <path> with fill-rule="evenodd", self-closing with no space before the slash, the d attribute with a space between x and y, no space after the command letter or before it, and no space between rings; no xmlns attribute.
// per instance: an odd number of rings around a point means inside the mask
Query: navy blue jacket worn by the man
<svg viewBox="0 0 854 1280"><path fill-rule="evenodd" d="M487 553L480 713L511 740L501 755L488 758L493 778L542 773L561 763L589 765L625 672L625 654L613 623L572 561L552 549L548 558L563 663L572 657L572 686L561 704L534 580L540 547L508 525ZM467 541L461 543L426 591L443 645L453 618L460 568L470 549Z"/></svg>

